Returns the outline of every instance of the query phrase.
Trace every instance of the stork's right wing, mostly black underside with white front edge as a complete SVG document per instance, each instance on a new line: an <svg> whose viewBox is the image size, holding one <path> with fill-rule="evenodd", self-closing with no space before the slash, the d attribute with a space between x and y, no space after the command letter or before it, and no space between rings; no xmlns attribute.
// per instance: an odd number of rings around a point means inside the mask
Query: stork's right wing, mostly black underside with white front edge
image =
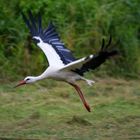
<svg viewBox="0 0 140 140"><path fill-rule="evenodd" d="M96 69L107 59L109 59L111 56L118 54L117 50L108 50L110 44L111 44L111 37L106 46L103 40L101 50L96 55L90 55L88 57L74 61L66 65L62 70L71 70L78 73L79 75L83 75L85 72L91 69L92 70Z"/></svg>

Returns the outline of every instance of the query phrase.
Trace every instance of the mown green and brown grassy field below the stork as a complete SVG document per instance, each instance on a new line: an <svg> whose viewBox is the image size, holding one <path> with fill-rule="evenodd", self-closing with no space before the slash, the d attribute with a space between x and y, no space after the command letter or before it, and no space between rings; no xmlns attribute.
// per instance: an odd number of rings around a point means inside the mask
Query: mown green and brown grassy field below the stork
<svg viewBox="0 0 140 140"><path fill-rule="evenodd" d="M40 140L140 139L140 81L95 79L80 82L92 111L75 90L45 80L14 89L0 86L0 138Z"/></svg>

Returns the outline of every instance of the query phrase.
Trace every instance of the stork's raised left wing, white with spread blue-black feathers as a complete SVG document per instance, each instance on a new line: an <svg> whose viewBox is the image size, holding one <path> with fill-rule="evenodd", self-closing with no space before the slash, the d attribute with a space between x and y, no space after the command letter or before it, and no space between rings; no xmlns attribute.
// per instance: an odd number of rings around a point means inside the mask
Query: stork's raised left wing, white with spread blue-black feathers
<svg viewBox="0 0 140 140"><path fill-rule="evenodd" d="M28 16L29 18L22 13L22 17L31 32L33 40L45 53L50 66L62 67L76 60L71 51L61 42L52 22L49 23L47 29L42 29L40 14L38 14L36 19L29 11Z"/></svg>

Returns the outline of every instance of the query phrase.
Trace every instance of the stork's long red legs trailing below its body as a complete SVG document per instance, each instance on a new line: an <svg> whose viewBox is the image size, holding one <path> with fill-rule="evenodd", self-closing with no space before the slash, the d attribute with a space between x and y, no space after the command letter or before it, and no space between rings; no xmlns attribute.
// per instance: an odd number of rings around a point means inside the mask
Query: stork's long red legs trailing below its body
<svg viewBox="0 0 140 140"><path fill-rule="evenodd" d="M84 106L85 106L86 109L90 112L90 106L89 106L88 103L86 102L86 100L85 100L85 98L84 98L84 95L83 95L83 93L82 93L80 87L79 87L78 85L76 85L76 84L72 84L72 83L69 83L69 84L72 85L72 86L76 89L76 91L78 92L78 94L79 94L79 96L80 96L80 98L81 98L81 100L82 100Z"/></svg>

